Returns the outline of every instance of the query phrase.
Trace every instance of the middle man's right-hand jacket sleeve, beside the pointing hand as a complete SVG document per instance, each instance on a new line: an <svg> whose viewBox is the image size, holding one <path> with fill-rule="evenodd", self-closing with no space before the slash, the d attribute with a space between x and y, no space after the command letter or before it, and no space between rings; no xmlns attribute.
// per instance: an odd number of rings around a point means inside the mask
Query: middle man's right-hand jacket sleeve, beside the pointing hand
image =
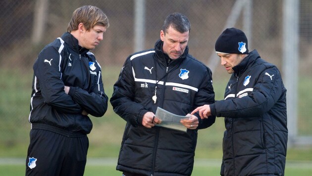
<svg viewBox="0 0 312 176"><path fill-rule="evenodd" d="M214 91L212 87L212 72L207 68L207 75L198 89L195 97L194 109L205 104L214 103ZM201 119L198 113L194 114L199 120L197 129L205 129L215 122L215 116L209 116L207 119Z"/></svg>

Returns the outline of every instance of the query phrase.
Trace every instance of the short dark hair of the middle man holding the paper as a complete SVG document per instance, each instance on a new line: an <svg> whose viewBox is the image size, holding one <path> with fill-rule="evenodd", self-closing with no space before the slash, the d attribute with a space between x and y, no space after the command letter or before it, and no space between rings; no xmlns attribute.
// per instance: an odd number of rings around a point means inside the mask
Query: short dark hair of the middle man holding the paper
<svg viewBox="0 0 312 176"><path fill-rule="evenodd" d="M173 29L180 33L191 32L191 23L189 19L182 13L171 13L168 15L163 23L162 30L164 33L172 26Z"/></svg>

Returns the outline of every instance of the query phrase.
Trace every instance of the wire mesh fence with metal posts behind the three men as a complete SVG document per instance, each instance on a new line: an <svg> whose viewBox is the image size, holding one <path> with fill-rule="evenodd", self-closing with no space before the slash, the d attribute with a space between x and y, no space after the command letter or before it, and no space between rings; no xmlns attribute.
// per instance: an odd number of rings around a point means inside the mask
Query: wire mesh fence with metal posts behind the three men
<svg viewBox="0 0 312 176"><path fill-rule="evenodd" d="M0 156L8 153L26 156L32 65L46 44L66 32L72 12L86 4L100 7L109 18L110 27L104 34L104 41L92 51L104 69L104 88L109 97L125 58L135 51L154 47L165 17L181 12L188 16L192 26L190 53L213 68L217 99L223 97L229 78L214 53L214 43L225 27L245 30L249 50L257 49L263 59L275 64L284 81L286 73L290 76L298 73L294 78L298 82L288 81L288 85L295 84L298 88L295 89L298 102L288 102L288 107L296 107L292 115L295 117L288 117L295 118L288 124L295 124L295 128L289 129L294 134L290 141L292 147L297 147L302 143L296 142L296 138L308 136L306 144L312 143L309 137L312 136L312 1L297 1L298 18L289 25L296 27L298 24L295 34L298 40L294 43L287 41L288 35L293 34L284 33L283 16L289 13L285 7L287 1L297 0L1 0L0 149L3 152ZM294 9L295 6L291 7ZM298 48L299 57L293 58L298 59L298 72L291 64L283 69L286 43ZM217 131L216 136L204 139L203 135L198 147L221 147L224 127L222 118L219 119L217 125L211 127ZM119 147L125 122L114 114L111 106L103 118L92 120L94 129L90 134L89 153L104 156L101 153L104 146ZM10 149L16 152L5 152Z"/></svg>

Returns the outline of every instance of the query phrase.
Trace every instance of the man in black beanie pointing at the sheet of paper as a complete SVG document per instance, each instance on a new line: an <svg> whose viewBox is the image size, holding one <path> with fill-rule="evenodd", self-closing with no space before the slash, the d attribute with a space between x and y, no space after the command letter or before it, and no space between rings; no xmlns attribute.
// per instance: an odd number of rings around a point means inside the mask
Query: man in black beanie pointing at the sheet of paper
<svg viewBox="0 0 312 176"><path fill-rule="evenodd" d="M222 176L284 176L286 88L276 66L248 51L239 29L222 32L215 51L231 78L224 100L196 108L202 119L225 117Z"/></svg>

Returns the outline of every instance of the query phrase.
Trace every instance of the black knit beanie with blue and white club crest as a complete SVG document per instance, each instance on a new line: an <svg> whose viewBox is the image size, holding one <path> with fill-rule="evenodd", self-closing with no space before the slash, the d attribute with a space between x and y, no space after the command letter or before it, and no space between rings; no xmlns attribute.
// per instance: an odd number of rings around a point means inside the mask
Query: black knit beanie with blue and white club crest
<svg viewBox="0 0 312 176"><path fill-rule="evenodd" d="M247 37L239 29L228 28L219 36L214 48L217 53L248 54Z"/></svg>

